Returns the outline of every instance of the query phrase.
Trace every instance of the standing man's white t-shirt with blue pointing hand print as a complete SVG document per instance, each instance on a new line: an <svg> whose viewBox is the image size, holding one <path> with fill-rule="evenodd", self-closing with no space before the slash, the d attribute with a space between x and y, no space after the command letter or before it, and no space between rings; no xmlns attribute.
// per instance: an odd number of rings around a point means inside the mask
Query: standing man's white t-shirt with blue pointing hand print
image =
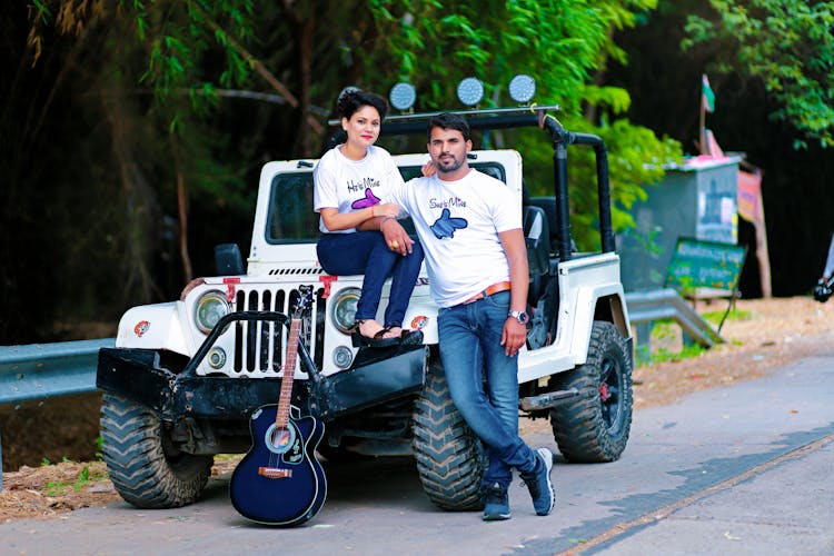
<svg viewBox="0 0 834 556"><path fill-rule="evenodd" d="M493 284L509 280L499 232L520 229L507 186L470 169L457 181L415 178L390 192L411 216L426 256L431 297L451 307Z"/></svg>

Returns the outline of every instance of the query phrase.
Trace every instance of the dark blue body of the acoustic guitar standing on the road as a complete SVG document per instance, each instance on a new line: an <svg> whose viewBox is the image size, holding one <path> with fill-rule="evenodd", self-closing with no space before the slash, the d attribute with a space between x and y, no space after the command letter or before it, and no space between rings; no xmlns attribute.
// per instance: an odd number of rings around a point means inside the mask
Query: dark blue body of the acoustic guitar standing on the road
<svg viewBox="0 0 834 556"><path fill-rule="evenodd" d="M269 405L252 414L252 447L231 475L231 504L252 522L300 525L318 514L327 497L325 470L315 454L325 425L307 416L277 427L277 410Z"/></svg>

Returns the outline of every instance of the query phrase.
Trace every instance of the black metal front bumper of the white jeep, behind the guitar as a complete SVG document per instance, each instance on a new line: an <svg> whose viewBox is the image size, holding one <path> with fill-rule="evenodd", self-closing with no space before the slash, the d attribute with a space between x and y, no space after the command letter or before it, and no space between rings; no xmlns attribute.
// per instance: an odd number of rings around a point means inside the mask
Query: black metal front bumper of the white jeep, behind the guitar
<svg viewBox="0 0 834 556"><path fill-rule="evenodd" d="M366 348L364 348L366 349ZM328 421L419 391L425 383L428 348L408 346L359 354L353 368L322 377L305 368L309 380L296 380L292 404ZM301 349L302 367L311 364ZM102 348L96 386L152 409L169 423L183 417L246 419L257 408L277 404L280 378L230 378L171 373L157 351Z"/></svg>

